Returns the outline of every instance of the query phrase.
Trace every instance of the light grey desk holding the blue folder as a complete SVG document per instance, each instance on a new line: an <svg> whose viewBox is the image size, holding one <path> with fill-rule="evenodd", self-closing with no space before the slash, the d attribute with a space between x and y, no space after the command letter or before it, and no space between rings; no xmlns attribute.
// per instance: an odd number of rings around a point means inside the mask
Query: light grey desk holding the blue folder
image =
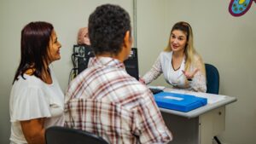
<svg viewBox="0 0 256 144"><path fill-rule="evenodd" d="M173 91L173 89L164 89L164 91ZM179 92L183 91L177 90L177 93ZM196 95L195 92L185 93ZM207 93L205 95L212 96ZM225 129L226 105L235 101L235 97L224 95L223 100L190 112L160 108L168 129L172 131L173 141L170 144L212 144L213 136Z"/></svg>

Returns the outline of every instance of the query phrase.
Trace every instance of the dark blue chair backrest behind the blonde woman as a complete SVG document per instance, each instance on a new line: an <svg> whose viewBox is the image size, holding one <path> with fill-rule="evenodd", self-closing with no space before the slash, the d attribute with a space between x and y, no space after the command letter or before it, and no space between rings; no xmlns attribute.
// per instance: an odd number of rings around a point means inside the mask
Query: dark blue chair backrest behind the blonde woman
<svg viewBox="0 0 256 144"><path fill-rule="evenodd" d="M218 94L219 74L218 69L211 64L205 64L207 72L207 93Z"/></svg>

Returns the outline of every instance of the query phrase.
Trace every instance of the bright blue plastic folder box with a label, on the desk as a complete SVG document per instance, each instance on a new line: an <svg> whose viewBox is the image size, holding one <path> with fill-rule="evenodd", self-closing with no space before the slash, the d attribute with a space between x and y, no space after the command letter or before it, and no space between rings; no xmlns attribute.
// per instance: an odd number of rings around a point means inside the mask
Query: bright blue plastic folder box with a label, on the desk
<svg viewBox="0 0 256 144"><path fill-rule="evenodd" d="M195 95L161 92L154 95L158 107L181 112L189 112L195 108L207 105L207 99Z"/></svg>

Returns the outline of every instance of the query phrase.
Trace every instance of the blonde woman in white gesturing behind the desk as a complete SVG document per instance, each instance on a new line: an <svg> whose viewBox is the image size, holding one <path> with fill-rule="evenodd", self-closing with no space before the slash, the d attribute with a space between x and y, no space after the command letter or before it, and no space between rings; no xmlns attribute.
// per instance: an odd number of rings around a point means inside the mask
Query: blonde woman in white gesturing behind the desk
<svg viewBox="0 0 256 144"><path fill-rule="evenodd" d="M166 49L140 81L149 84L163 73L166 82L174 88L206 92L205 65L193 44L189 23L177 22L172 27Z"/></svg>

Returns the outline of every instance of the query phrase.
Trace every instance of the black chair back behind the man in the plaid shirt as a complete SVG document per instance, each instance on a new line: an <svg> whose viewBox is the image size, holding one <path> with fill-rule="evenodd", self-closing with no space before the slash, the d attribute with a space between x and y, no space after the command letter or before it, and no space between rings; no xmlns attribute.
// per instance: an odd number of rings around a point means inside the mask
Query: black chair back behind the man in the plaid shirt
<svg viewBox="0 0 256 144"><path fill-rule="evenodd" d="M108 144L102 137L83 130L53 126L45 131L46 144Z"/></svg>

